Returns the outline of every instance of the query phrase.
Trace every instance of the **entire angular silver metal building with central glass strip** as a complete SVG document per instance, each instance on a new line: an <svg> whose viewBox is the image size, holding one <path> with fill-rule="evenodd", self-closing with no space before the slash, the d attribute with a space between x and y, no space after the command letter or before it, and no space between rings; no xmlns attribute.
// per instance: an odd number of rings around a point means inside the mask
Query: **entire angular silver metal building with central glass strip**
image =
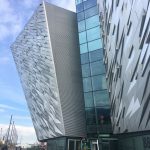
<svg viewBox="0 0 150 150"><path fill-rule="evenodd" d="M150 2L47 2L11 46L48 150L150 149Z"/></svg>

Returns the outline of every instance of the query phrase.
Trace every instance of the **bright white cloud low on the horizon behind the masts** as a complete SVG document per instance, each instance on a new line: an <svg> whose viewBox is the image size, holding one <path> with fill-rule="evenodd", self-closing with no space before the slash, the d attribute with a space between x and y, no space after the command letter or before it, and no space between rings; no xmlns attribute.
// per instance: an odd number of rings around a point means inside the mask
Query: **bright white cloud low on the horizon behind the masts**
<svg viewBox="0 0 150 150"><path fill-rule="evenodd" d="M0 124L0 128L3 129L3 134L5 134L8 129L8 125ZM18 143L33 144L37 142L35 130L33 127L16 125L16 129L18 133Z"/></svg>

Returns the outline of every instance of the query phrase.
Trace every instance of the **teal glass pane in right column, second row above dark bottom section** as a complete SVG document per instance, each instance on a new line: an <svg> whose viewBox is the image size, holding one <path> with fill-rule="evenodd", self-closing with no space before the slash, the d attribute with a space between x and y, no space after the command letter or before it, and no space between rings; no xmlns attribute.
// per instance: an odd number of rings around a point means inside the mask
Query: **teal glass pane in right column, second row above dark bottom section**
<svg viewBox="0 0 150 150"><path fill-rule="evenodd" d="M106 78L104 75L92 77L93 90L107 89Z"/></svg>

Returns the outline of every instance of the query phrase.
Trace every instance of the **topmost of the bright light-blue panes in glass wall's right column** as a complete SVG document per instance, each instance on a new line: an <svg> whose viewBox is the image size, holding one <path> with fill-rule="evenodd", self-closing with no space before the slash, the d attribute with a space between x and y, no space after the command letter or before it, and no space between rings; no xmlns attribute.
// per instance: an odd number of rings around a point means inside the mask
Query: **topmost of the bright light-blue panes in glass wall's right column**
<svg viewBox="0 0 150 150"><path fill-rule="evenodd" d="M86 29L90 29L99 25L99 16L93 16L86 19Z"/></svg>

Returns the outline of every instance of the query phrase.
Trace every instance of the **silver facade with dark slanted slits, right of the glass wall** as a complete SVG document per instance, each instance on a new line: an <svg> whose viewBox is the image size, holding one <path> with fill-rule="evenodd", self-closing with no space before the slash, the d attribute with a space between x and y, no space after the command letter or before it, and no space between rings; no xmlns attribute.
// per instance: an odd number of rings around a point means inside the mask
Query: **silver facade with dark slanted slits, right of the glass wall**
<svg viewBox="0 0 150 150"><path fill-rule="evenodd" d="M150 130L150 3L105 0L103 5L114 133Z"/></svg>

